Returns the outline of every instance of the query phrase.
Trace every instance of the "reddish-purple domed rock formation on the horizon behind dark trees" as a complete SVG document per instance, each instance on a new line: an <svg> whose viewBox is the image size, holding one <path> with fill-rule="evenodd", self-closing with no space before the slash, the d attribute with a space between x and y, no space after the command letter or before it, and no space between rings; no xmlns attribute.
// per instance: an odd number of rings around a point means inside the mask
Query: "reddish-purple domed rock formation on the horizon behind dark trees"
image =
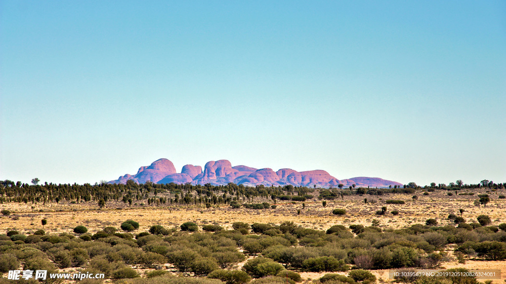
<svg viewBox="0 0 506 284"><path fill-rule="evenodd" d="M343 184L348 187L352 184L356 186L370 187L388 187L390 185L402 185L399 182L385 180L378 177L352 177L339 180L331 176L324 170L312 170L298 172L296 170L284 168L273 171L271 168L256 169L244 165L233 166L228 160L209 161L202 170L201 166L185 165L181 173L176 171L174 164L167 159L159 159L149 166L140 167L137 174L125 174L109 183L126 183L132 179L137 183L151 181L155 183L187 183L213 185L227 184L233 182L244 185L288 185L293 186L316 186L318 187L338 187Z"/></svg>

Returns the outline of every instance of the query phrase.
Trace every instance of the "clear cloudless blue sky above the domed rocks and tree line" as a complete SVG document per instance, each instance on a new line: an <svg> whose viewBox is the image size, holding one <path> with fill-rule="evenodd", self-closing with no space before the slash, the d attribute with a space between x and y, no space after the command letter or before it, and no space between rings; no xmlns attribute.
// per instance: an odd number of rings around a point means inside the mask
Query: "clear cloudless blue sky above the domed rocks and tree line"
<svg viewBox="0 0 506 284"><path fill-rule="evenodd" d="M505 1L0 0L0 179L159 158L506 181Z"/></svg>

